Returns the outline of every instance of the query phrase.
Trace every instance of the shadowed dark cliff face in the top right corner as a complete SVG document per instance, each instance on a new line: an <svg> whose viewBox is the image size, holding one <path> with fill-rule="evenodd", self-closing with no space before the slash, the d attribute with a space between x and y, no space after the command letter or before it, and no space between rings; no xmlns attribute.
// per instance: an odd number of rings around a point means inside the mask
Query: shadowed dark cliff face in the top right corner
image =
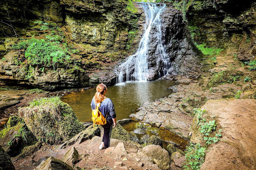
<svg viewBox="0 0 256 170"><path fill-rule="evenodd" d="M235 51L243 61L254 59L255 1L194 0L187 14L196 42Z"/></svg>

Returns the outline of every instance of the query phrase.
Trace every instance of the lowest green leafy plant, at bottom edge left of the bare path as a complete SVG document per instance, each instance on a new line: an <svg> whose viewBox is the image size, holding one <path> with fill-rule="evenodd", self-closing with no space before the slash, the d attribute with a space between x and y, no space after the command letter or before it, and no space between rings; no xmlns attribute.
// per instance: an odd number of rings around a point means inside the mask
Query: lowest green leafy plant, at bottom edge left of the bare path
<svg viewBox="0 0 256 170"><path fill-rule="evenodd" d="M205 148L201 147L200 143L187 146L185 150L185 162L183 163L184 170L199 170L204 163Z"/></svg>

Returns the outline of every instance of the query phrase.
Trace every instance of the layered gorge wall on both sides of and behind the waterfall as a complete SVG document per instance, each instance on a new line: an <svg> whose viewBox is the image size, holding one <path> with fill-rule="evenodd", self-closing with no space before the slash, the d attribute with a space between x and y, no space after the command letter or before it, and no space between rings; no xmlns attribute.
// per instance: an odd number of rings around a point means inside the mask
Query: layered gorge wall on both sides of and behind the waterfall
<svg viewBox="0 0 256 170"><path fill-rule="evenodd" d="M255 1L188 2L191 2L187 10L189 28L182 17L183 12L170 4L161 15L162 39L171 62L168 79L176 75L198 75L200 65L192 40L228 49L243 61L254 59ZM135 52L145 22L142 8L125 0L10 0L0 2L0 7L1 85L58 89L114 84L116 73L113 70ZM32 65L22 58L22 50L13 50L13 45L24 39L45 39L43 35L51 34L40 30L40 25L34 23L38 20L57 25L63 34L60 45L71 46L70 51L78 50L71 54L69 62L58 67ZM149 67L157 70L156 30L152 28L151 31ZM159 74L155 72L152 77L157 79Z"/></svg>

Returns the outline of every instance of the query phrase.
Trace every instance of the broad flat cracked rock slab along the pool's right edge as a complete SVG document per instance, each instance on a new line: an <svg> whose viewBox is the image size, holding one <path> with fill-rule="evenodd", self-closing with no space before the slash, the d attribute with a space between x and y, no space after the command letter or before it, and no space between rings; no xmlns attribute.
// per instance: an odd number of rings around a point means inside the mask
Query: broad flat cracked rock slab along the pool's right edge
<svg viewBox="0 0 256 170"><path fill-rule="evenodd" d="M142 109L136 114L131 114L130 117L153 126L161 124L161 127L165 127L171 132L188 139L193 121L192 117L178 109L180 102L176 102L175 98L163 98L160 100L157 101L159 104L155 102L144 103Z"/></svg>

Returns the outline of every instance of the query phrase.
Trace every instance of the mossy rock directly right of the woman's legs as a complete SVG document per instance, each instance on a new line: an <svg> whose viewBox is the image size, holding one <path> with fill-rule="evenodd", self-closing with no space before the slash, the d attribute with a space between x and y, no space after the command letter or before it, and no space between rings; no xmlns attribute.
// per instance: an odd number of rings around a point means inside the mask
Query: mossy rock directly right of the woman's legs
<svg viewBox="0 0 256 170"><path fill-rule="evenodd" d="M111 138L124 141L131 140L130 134L119 123L112 128Z"/></svg>

